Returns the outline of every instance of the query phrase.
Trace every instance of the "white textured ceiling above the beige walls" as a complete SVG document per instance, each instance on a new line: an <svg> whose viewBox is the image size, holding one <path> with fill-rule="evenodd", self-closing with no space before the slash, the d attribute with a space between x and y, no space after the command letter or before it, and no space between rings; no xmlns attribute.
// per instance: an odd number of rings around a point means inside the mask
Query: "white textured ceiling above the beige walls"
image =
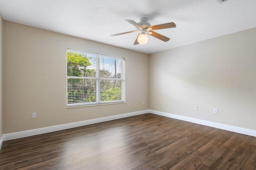
<svg viewBox="0 0 256 170"><path fill-rule="evenodd" d="M143 53L256 27L256 0L0 0L4 20L47 29ZM137 33L125 21L148 18L151 25L174 22L176 28L156 30L168 42L149 36L146 45L133 45Z"/></svg>

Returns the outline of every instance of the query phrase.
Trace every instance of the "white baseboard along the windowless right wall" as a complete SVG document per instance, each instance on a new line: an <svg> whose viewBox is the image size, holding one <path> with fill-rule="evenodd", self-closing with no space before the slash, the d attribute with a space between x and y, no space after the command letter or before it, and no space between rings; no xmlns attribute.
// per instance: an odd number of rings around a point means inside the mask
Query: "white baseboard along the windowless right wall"
<svg viewBox="0 0 256 170"><path fill-rule="evenodd" d="M197 124L200 124L200 125L206 125L206 126L215 127L215 128L218 128L218 129L223 129L223 130L226 130L226 131L232 131L232 132L241 133L241 134L244 134L244 135L250 135L250 136L256 137L256 131L250 130L250 129L235 127L235 126L230 126L230 125L224 125L224 124L221 124L221 123L214 123L214 122L211 122L211 121L205 121L205 120L200 120L200 119L194 119L194 118L191 118L191 117L174 115L174 114L165 113L165 112L162 112L162 111L149 110L149 113L153 113L155 115L170 117L170 118L174 118L174 119L179 119L179 120L183 120L183 121L197 123Z"/></svg>

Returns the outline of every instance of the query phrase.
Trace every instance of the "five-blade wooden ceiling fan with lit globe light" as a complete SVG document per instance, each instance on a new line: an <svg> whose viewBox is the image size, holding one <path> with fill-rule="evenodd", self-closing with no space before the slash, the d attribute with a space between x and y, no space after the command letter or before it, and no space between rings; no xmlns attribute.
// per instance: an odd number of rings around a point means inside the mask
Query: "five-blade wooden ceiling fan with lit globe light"
<svg viewBox="0 0 256 170"><path fill-rule="evenodd" d="M170 38L165 37L164 35L161 35L159 33L156 33L152 30L157 30L157 29L166 29L166 28L174 28L176 27L176 24L173 22L169 22L169 23L163 23L163 24L159 24L159 25L151 25L148 22L148 18L140 18L140 22L136 23L133 20L126 20L127 22L131 23L132 25L134 25L136 27L137 30L134 31L128 31L125 33L119 33L119 34L114 34L111 36L116 36L116 35L122 35L122 34L127 34L127 33L133 33L133 32L137 32L140 31L140 33L138 34L135 42L133 45L137 45L137 44L146 44L148 42L148 35L151 35L155 38L158 38L164 42L169 41Z"/></svg>

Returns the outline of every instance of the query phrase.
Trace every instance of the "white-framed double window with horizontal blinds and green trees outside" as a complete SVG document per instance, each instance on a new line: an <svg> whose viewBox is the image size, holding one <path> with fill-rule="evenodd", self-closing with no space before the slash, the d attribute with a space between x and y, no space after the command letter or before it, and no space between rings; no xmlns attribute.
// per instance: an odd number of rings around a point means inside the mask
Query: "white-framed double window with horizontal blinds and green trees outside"
<svg viewBox="0 0 256 170"><path fill-rule="evenodd" d="M124 102L124 59L67 49L67 106Z"/></svg>

